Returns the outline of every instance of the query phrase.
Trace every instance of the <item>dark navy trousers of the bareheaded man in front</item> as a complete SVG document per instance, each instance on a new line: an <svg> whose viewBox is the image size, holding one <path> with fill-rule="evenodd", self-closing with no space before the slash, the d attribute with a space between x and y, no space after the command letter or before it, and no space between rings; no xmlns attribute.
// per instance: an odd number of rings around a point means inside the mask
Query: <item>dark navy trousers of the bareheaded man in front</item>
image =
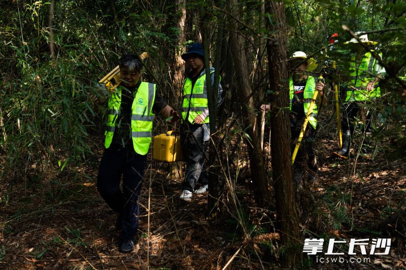
<svg viewBox="0 0 406 270"><path fill-rule="evenodd" d="M120 239L132 239L138 230L141 192L147 156L131 146L111 145L103 153L97 176L97 190L111 209L121 215ZM123 190L120 189L121 175Z"/></svg>

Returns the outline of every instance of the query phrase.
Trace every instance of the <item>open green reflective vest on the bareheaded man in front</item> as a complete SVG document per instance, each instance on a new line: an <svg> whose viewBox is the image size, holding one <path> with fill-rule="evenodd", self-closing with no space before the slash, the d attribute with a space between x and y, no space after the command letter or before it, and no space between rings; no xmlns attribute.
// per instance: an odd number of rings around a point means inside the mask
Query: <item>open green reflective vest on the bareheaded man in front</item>
<svg viewBox="0 0 406 270"><path fill-rule="evenodd" d="M142 82L131 105L131 138L134 150L146 155L152 140L152 105L155 100L155 84ZM113 140L116 120L121 106L121 87L116 88L109 98L105 147Z"/></svg>

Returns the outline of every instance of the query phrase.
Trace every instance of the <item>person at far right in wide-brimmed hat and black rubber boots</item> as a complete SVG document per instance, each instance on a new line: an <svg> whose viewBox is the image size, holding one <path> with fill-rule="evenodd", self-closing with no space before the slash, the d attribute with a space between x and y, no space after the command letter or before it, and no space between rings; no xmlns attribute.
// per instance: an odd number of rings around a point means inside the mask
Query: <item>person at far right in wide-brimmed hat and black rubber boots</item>
<svg viewBox="0 0 406 270"><path fill-rule="evenodd" d="M356 32L359 35L361 32ZM371 104L374 100L381 96L381 90L378 85L379 80L385 74L385 68L381 67L371 54L374 50L365 53L364 47L360 45L363 43L365 46L371 48L377 42L368 41L367 34L359 35L358 41L352 38L349 42L344 44L352 45L356 50L356 54L352 55L350 61L350 81L343 84L342 89L345 91L345 110L343 112L342 121L342 134L343 144L339 151L333 152L333 156L342 159L348 159L350 154L351 139L354 134L354 123L356 117L362 106ZM382 58L382 54L375 52ZM364 106L365 107L365 106ZM372 111L366 113L365 123L363 125L363 132L368 132L371 129Z"/></svg>

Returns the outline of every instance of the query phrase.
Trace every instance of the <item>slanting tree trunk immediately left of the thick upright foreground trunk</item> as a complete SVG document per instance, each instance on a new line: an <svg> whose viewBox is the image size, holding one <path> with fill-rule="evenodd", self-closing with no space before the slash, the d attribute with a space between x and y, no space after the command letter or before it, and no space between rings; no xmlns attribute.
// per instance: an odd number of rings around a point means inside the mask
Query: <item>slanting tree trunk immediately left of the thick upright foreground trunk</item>
<svg viewBox="0 0 406 270"><path fill-rule="evenodd" d="M230 13L232 17L239 20L238 3L236 0L230 0ZM259 207L267 207L270 203L270 192L264 166L264 158L261 151L261 142L259 136L258 123L256 120L256 110L254 99L251 95L251 85L249 82L249 69L244 48L243 38L238 34L237 23L231 22L230 40L231 52L233 55L237 85L241 93L243 104L243 113L248 124L248 135L250 140L247 142L248 155L250 158L251 178L254 187L255 201Z"/></svg>

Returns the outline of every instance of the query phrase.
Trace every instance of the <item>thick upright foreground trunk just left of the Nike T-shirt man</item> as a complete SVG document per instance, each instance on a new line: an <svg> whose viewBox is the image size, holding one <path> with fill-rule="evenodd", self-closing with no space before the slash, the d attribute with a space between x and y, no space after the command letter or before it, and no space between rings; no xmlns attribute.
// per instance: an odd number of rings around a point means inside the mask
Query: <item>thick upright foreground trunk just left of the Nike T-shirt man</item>
<svg viewBox="0 0 406 270"><path fill-rule="evenodd" d="M299 238L299 222L297 219L292 184L292 166L290 155L289 125L289 86L286 55L286 18L284 2L270 2L267 6L272 22L267 22L272 39L266 43L269 64L271 97L270 128L272 170L275 186L277 220L276 225L281 232L282 244L286 254L282 266L292 268L300 255L296 256L295 246ZM275 34L273 34L275 33ZM301 254L300 252L297 252Z"/></svg>

